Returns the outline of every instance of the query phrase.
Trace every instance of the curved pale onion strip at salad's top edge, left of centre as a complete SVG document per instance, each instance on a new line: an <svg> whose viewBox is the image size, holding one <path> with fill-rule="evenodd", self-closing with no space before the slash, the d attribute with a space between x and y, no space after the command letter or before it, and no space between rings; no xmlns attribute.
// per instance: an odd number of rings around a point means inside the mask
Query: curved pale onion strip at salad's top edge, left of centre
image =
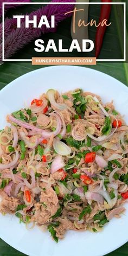
<svg viewBox="0 0 128 256"><path fill-rule="evenodd" d="M67 107L65 104L56 103L56 101L55 101L55 90L54 89L49 89L47 91L47 96L48 96L48 99L50 101L50 105L57 108L57 110L65 110L65 108Z"/></svg>

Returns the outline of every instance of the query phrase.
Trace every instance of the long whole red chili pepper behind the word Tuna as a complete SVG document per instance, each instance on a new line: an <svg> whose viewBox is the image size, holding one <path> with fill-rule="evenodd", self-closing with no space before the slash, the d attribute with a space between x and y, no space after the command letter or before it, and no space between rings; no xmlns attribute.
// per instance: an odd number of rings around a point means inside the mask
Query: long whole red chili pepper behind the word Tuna
<svg viewBox="0 0 128 256"><path fill-rule="evenodd" d="M104 2L112 2L112 0L101 0L102 3ZM110 12L111 12L111 4L102 4L101 5L101 10L100 10L100 18L99 18L99 23L103 22L103 20L107 20L108 24L108 18L110 17ZM103 38L104 34L106 31L107 26L104 24L103 27L99 25L96 31L95 35L95 57L98 57L100 54L101 46L103 44Z"/></svg>

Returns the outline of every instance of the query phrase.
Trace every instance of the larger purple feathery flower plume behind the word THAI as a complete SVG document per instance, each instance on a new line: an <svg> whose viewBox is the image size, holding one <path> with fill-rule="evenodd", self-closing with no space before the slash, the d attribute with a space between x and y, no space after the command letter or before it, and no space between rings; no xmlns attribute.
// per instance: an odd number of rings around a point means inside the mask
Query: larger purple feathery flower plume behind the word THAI
<svg viewBox="0 0 128 256"><path fill-rule="evenodd" d="M53 0L54 2L62 2L61 0ZM72 3L74 0L63 0L63 2ZM42 28L33 28L33 24L30 24L29 28L25 28L25 22L21 23L21 28L15 28L14 19L7 19L5 22L5 59L9 59L9 57L16 53L17 50L23 48L30 41L38 38L41 34L44 33L55 33L57 24L67 17L70 17L72 14L65 15L66 12L72 11L74 8L73 4L65 4L65 5L47 5L46 7L40 8L34 12L29 14L29 18L32 19L33 15L37 15L37 22L40 21L42 15L47 15L47 19L50 24L51 15L55 15L55 28L46 28L43 26ZM9 30L11 29L11 33ZM0 44L0 60L2 59L2 43Z"/></svg>

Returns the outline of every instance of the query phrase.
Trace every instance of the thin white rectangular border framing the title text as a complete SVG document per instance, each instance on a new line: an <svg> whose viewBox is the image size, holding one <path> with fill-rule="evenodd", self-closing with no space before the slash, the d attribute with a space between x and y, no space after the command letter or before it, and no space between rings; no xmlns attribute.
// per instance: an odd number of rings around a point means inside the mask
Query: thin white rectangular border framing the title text
<svg viewBox="0 0 128 256"><path fill-rule="evenodd" d="M79 2L79 3L76 3L76 2L72 2L72 3L69 3L69 2L54 2L54 3L47 3L47 2L33 2L33 3L27 3L27 2L4 2L2 3L2 7L3 7L3 18L2 18L2 21L3 21L3 24L2 24L2 28L3 28L3 31L2 31L2 61L31 61L31 59L25 59L25 60L20 60L20 59L4 59L4 6L5 4L123 4L124 5L124 59L97 59L97 61L126 61L126 3L125 2L91 2L91 3L87 3L87 2Z"/></svg>

